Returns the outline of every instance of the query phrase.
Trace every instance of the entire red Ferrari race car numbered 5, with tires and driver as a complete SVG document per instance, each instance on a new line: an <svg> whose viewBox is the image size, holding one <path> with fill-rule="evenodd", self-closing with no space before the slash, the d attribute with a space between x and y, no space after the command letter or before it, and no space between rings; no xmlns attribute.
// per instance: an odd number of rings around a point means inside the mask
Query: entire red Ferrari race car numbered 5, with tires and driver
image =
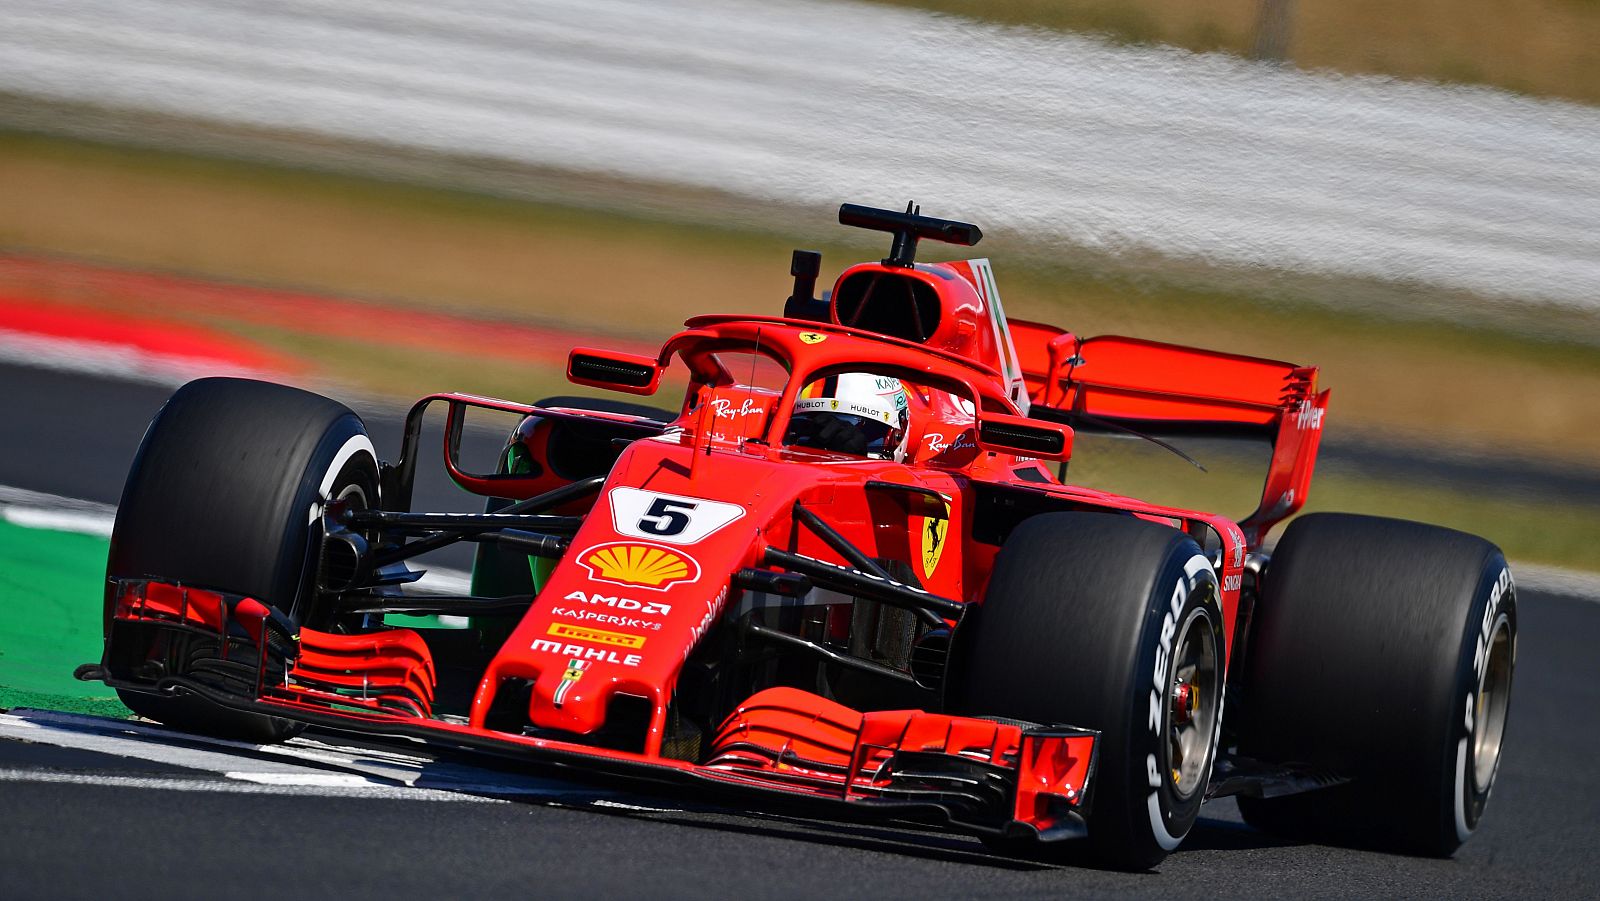
<svg viewBox="0 0 1600 901"><path fill-rule="evenodd" d="M976 227L893 234L784 317L702 315L573 382L682 405L442 394L384 463L346 406L182 387L128 477L106 653L80 677L187 730L306 723L811 799L1016 851L1149 867L1200 805L1274 831L1451 853L1494 781L1517 605L1499 551L1307 515L1317 370L1008 322ZM483 514L413 512L426 410ZM469 413L520 416L491 472ZM1064 480L1074 434L1272 443L1230 519ZM405 591L477 544L474 591ZM466 629L395 626L397 615ZM1226 709L1226 715L1224 715Z"/></svg>

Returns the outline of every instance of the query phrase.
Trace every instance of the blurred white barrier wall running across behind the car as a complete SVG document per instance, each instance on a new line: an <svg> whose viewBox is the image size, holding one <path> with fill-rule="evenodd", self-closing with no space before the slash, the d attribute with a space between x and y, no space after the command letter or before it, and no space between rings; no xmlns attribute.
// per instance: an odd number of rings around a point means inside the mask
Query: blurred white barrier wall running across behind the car
<svg viewBox="0 0 1600 901"><path fill-rule="evenodd" d="M854 3L0 0L0 91L1600 314L1600 110Z"/></svg>

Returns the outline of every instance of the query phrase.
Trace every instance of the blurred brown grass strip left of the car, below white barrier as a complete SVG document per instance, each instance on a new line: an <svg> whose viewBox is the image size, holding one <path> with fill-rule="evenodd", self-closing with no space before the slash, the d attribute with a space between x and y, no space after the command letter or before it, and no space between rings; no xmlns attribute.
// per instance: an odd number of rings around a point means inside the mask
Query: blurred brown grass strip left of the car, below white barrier
<svg viewBox="0 0 1600 901"><path fill-rule="evenodd" d="M730 253L728 242L573 210L0 144L0 246L651 334L688 312L787 296L776 240L754 242L768 253Z"/></svg>

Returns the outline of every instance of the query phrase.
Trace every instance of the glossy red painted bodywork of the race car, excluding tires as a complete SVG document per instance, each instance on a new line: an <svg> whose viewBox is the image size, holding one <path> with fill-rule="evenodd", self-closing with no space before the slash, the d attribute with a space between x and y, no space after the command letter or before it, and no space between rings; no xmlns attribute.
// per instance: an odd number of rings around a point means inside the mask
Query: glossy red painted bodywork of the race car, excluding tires
<svg viewBox="0 0 1600 901"><path fill-rule="evenodd" d="M586 519L483 671L466 722L430 715L435 667L429 645L410 629L302 631L294 635L293 666L264 675L250 709L867 805L914 807L938 794L928 786L938 784L942 767L978 767L1006 786L1008 819L950 819L990 832L1048 835L1061 827L1091 787L1091 731L920 711L858 712L776 687L734 706L696 759L680 759L667 747L678 680L707 634L747 600L750 592L733 584L733 575L768 567L768 549L851 567L797 523L803 507L869 557L898 562L923 592L982 603L998 546L982 535L978 511L998 491L1042 507L1125 511L1181 528L1202 544L1210 539L1232 643L1246 552L1304 503L1326 392L1317 392L1312 368L1008 323L986 261L856 266L840 275L835 299L848 294L842 288L850 278L917 282L918 296L931 291L938 299L931 333L918 342L851 328L845 325L851 312L835 301L832 322L691 318L654 358L573 352L573 381L619 387L610 376L582 374L598 371L582 360L598 360L637 370L637 384L622 386L634 394L653 392L661 371L682 363L690 382L685 402L662 434L627 443L597 496L557 511ZM746 384L750 379L725 365L728 355L765 357L786 376L781 386ZM803 386L864 368L912 386L904 459L784 445ZM450 408L448 430L470 406L526 414L517 438L533 455L541 451L541 429L563 416L629 419L448 394L424 398L419 408L435 402ZM1072 430L1062 422L1072 414L1141 429L1254 430L1274 442L1261 506L1235 523L1059 483L1045 461L1070 456ZM1051 450L1008 453L986 437L1026 422L1037 426L1035 438L1045 445L1056 442ZM448 438L445 456L451 477L485 496L531 498L563 483L549 467L526 477L474 477L456 466ZM693 514L685 514L690 522L678 533L670 533L672 511ZM272 637L251 603L141 581L123 586L115 616L218 634L240 623L264 656ZM946 626L954 629L957 619L947 616ZM848 610L816 629L842 637ZM534 735L491 728L491 711L514 683L530 688L526 723ZM637 751L586 739L606 725L619 696L650 711Z"/></svg>

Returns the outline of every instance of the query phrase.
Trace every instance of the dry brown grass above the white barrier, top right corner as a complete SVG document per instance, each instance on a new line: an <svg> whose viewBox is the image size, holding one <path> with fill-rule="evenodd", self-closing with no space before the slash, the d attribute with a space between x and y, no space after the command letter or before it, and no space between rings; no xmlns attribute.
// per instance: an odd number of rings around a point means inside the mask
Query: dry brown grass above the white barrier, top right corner
<svg viewBox="0 0 1600 901"><path fill-rule="evenodd" d="M1250 54L1261 0L880 0L1133 43ZM1290 0L1302 69L1493 85L1600 102L1595 0Z"/></svg>

